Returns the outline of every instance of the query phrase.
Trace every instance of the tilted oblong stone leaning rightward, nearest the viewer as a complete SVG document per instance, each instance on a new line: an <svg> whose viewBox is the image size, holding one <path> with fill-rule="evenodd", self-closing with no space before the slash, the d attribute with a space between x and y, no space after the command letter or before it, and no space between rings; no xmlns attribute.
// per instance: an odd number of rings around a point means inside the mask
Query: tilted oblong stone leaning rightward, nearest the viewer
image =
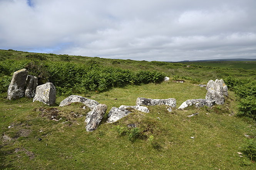
<svg viewBox="0 0 256 170"><path fill-rule="evenodd" d="M92 111L87 113L85 122L87 123L85 129L88 132L92 132L97 129L100 122L102 121L107 110L107 105L99 104L95 106Z"/></svg>

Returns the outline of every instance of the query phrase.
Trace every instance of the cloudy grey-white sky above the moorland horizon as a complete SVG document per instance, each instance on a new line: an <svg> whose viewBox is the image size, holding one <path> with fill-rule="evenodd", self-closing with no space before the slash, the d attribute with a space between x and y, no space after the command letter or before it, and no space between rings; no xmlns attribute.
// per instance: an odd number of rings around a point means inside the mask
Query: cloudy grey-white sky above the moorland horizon
<svg viewBox="0 0 256 170"><path fill-rule="evenodd" d="M255 0L0 0L0 49L110 59L256 59Z"/></svg>

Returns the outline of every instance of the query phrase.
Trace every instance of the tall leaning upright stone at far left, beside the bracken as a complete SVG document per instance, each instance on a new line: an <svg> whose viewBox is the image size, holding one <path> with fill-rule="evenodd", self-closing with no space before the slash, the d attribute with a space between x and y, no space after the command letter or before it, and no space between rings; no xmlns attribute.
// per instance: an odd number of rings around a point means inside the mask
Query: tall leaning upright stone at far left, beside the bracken
<svg viewBox="0 0 256 170"><path fill-rule="evenodd" d="M13 73L12 81L7 91L7 99L14 100L25 95L27 69L21 69Z"/></svg>

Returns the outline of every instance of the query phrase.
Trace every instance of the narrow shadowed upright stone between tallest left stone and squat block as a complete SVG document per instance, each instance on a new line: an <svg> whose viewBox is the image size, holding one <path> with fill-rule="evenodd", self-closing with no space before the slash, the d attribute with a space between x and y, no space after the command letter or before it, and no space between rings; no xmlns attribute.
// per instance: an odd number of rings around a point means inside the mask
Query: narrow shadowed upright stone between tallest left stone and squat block
<svg viewBox="0 0 256 170"><path fill-rule="evenodd" d="M28 75L26 79L26 90L25 95L28 98L35 96L35 91L37 90L38 78L33 75Z"/></svg>

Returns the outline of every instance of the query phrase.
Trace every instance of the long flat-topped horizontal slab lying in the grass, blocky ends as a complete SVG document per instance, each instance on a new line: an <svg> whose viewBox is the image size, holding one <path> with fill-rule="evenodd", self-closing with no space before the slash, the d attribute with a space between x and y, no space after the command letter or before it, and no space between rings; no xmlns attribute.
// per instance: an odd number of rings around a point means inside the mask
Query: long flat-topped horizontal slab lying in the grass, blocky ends
<svg viewBox="0 0 256 170"><path fill-rule="evenodd" d="M138 97L136 100L136 106L156 106L156 105L167 105L171 107L176 107L176 99L168 98L168 99L148 99Z"/></svg>

